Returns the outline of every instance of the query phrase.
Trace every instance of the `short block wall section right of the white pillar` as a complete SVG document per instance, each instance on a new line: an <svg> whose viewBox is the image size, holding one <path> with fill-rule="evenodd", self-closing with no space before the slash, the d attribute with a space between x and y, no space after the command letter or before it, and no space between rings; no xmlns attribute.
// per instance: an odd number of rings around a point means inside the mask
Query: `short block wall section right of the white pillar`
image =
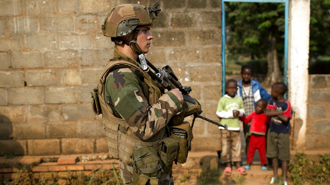
<svg viewBox="0 0 330 185"><path fill-rule="evenodd" d="M329 149L330 75L309 75L306 149Z"/></svg>

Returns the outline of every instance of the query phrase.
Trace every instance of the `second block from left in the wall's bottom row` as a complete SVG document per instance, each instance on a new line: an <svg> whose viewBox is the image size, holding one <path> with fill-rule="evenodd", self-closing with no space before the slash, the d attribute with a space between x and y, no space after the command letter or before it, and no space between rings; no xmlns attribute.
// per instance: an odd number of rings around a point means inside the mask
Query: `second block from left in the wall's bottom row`
<svg viewBox="0 0 330 185"><path fill-rule="evenodd" d="M29 148L28 155L60 154L60 143L58 139L33 139L27 142Z"/></svg>

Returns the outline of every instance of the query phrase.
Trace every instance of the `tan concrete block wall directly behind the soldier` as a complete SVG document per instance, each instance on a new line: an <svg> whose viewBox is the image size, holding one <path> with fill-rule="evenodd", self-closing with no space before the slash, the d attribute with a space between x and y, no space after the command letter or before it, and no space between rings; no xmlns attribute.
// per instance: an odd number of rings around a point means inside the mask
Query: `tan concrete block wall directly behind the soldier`
<svg viewBox="0 0 330 185"><path fill-rule="evenodd" d="M116 5L156 2L0 1L0 156L107 152L89 94L113 56L114 44L100 27ZM220 1L159 3L146 57L156 67L170 65L182 84L192 87L202 115L219 121ZM217 126L197 119L193 131L193 151L220 149Z"/></svg>

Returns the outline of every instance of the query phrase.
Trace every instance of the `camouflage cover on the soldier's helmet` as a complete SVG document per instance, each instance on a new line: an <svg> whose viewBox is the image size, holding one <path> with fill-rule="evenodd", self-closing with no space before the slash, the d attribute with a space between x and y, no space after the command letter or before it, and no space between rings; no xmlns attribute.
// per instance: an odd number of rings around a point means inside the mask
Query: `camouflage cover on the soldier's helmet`
<svg viewBox="0 0 330 185"><path fill-rule="evenodd" d="M145 6L123 4L112 8L101 27L106 37L129 36L140 25L152 25L152 19Z"/></svg>

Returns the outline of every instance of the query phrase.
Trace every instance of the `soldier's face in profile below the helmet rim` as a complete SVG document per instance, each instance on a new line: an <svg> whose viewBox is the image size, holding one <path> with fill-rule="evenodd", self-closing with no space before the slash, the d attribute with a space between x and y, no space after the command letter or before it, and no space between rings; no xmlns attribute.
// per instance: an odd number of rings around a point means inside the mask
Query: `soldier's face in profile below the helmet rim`
<svg viewBox="0 0 330 185"><path fill-rule="evenodd" d="M144 53L149 52L149 47L151 44L151 39L153 39L150 33L150 26L140 26L140 31L138 33L138 37L136 38L136 42L141 47Z"/></svg>

